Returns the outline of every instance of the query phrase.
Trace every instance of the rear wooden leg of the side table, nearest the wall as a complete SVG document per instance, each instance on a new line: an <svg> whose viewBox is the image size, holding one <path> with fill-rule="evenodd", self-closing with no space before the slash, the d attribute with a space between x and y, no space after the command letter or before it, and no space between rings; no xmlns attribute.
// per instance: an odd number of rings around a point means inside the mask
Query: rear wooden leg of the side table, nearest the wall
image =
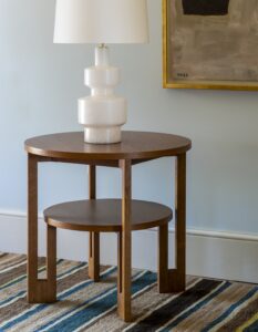
<svg viewBox="0 0 258 332"><path fill-rule="evenodd" d="M89 166L89 198L96 199L96 166ZM91 231L89 236L89 278L100 280L100 232Z"/></svg>

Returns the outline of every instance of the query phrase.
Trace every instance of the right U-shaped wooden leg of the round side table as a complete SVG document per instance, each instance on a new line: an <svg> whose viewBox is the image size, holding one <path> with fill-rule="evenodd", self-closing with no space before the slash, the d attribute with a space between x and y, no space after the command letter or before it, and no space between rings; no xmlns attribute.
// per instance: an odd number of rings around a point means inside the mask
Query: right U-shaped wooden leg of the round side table
<svg viewBox="0 0 258 332"><path fill-rule="evenodd" d="M161 293L185 290L186 252L186 154L176 159L176 201L175 201L175 261L176 268L168 269L168 226L158 229L158 290Z"/></svg>

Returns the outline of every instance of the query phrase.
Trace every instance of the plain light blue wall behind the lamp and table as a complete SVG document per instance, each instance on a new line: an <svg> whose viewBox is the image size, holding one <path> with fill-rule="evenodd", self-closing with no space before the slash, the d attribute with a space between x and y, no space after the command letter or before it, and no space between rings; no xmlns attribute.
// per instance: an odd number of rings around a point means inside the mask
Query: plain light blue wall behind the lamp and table
<svg viewBox="0 0 258 332"><path fill-rule="evenodd" d="M258 93L162 89L162 4L149 0L151 43L112 48L130 101L126 128L193 139L187 222L193 228L258 232ZM78 131L76 98L92 46L52 44L54 0L0 0L0 210L25 211L23 141ZM169 159L134 169L134 197L171 204ZM40 168L40 209L86 195L83 166ZM120 195L118 170L100 170L101 197Z"/></svg>

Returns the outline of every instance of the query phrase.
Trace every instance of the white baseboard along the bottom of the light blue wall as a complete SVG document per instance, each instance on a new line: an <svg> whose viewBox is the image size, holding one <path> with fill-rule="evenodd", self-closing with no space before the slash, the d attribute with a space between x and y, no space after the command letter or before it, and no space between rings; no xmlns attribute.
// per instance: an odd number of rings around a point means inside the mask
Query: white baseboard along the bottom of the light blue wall
<svg viewBox="0 0 258 332"><path fill-rule="evenodd" d="M39 221L39 255L45 255L45 229ZM173 267L174 231L169 232L169 264ZM27 218L19 212L0 212L0 251L25 253ZM58 256L87 259L87 234L59 230ZM101 235L101 262L116 264L116 235ZM156 230L133 234L133 267L156 270ZM187 273L258 283L258 235L213 230L187 230Z"/></svg>

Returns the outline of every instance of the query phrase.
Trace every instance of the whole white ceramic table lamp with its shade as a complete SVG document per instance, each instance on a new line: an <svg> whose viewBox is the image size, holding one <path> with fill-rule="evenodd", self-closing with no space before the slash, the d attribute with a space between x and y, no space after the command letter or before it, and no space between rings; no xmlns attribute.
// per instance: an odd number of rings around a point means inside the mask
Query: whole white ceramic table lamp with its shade
<svg viewBox="0 0 258 332"><path fill-rule="evenodd" d="M126 100L114 94L120 70L111 66L110 43L148 41L146 0L56 0L55 43L95 43L95 65L85 70L91 95L79 100L79 123L84 141L121 142Z"/></svg>

